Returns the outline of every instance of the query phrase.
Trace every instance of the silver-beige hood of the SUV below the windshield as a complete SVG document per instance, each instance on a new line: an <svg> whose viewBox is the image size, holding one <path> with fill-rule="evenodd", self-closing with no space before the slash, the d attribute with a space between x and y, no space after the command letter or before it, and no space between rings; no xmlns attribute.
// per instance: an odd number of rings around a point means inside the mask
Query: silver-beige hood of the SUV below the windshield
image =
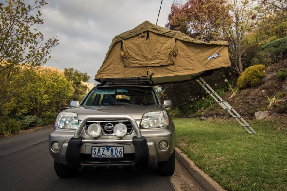
<svg viewBox="0 0 287 191"><path fill-rule="evenodd" d="M130 115L135 120L141 120L149 111L162 111L159 105L110 105L110 106L79 106L64 110L78 114L79 120L88 115Z"/></svg>

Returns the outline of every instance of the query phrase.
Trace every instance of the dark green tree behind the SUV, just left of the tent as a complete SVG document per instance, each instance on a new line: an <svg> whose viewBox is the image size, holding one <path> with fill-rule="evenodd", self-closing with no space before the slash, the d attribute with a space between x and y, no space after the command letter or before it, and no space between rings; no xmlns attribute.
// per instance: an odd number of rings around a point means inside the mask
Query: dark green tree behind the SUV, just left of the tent
<svg viewBox="0 0 287 191"><path fill-rule="evenodd" d="M72 83L74 88L72 100L80 101L88 90L88 86L85 82L89 81L90 76L88 76L86 72L83 73L75 70L74 68L65 68L64 75L66 76L67 80Z"/></svg>

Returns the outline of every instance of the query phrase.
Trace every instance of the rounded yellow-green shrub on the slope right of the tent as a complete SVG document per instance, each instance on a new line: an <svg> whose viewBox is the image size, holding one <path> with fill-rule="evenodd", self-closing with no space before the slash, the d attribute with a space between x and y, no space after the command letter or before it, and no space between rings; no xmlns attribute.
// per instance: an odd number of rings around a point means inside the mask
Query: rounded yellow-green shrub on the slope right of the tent
<svg viewBox="0 0 287 191"><path fill-rule="evenodd" d="M254 65L244 70L237 80L237 85L240 88L255 87L258 86L261 83L262 78L266 76L264 65Z"/></svg>

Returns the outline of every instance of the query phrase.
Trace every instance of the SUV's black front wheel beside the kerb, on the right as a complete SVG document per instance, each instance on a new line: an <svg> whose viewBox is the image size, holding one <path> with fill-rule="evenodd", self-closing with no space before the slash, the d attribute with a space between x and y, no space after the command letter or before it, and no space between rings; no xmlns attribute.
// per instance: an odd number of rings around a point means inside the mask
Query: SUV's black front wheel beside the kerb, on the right
<svg viewBox="0 0 287 191"><path fill-rule="evenodd" d="M162 176L171 176L175 168L175 152L173 151L171 157L164 162L158 162L158 173Z"/></svg>

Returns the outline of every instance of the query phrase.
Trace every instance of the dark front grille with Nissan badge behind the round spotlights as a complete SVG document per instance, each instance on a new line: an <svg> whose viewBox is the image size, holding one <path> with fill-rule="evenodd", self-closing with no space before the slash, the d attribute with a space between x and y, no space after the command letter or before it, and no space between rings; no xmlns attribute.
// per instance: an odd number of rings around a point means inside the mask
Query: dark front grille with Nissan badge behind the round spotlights
<svg viewBox="0 0 287 191"><path fill-rule="evenodd" d="M118 123L125 124L128 129L126 135L132 133L132 129L133 129L131 122L129 122L128 120L124 120L124 121L87 121L85 124L86 130L88 129L89 125L92 123L97 123L102 127L102 133L100 135L115 135L113 132L114 129L112 129L111 132L105 129L106 124L112 124L114 127Z"/></svg>

